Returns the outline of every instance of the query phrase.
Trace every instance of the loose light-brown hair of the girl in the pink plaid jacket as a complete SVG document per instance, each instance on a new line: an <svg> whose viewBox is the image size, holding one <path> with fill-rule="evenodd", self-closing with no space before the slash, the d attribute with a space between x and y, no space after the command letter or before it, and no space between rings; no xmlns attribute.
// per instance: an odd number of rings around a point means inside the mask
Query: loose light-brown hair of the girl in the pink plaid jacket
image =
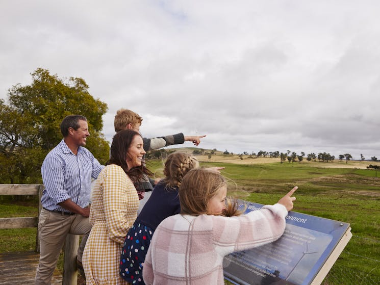
<svg viewBox="0 0 380 285"><path fill-rule="evenodd" d="M190 170L182 179L179 189L181 214L207 214L209 200L225 185L226 180L218 172L206 169Z"/></svg>

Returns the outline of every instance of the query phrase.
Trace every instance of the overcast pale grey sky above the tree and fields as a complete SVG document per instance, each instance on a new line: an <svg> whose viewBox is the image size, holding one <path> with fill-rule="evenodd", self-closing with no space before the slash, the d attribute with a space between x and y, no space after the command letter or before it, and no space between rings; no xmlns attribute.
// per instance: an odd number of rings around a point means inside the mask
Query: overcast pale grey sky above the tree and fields
<svg viewBox="0 0 380 285"><path fill-rule="evenodd" d="M380 159L379 12L377 0L4 0L0 98L42 67L107 103L110 141L126 108L145 137Z"/></svg>

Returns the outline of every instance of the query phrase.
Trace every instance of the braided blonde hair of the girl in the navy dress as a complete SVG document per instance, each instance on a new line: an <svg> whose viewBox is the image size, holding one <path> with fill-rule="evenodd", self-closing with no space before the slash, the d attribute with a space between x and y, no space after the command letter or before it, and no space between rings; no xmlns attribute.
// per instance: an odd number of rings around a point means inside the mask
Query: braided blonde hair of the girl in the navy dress
<svg viewBox="0 0 380 285"><path fill-rule="evenodd" d="M191 169L199 167L198 160L184 152L171 153L165 162L165 178L162 183L166 188L180 187L182 178Z"/></svg>

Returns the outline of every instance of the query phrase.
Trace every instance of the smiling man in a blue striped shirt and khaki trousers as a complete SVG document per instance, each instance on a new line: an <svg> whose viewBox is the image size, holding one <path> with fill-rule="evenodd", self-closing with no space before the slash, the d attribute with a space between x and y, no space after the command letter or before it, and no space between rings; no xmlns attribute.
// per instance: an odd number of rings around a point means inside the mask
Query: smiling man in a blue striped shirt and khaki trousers
<svg viewBox="0 0 380 285"><path fill-rule="evenodd" d="M45 190L38 223L40 261L36 285L50 284L67 234L89 234L91 177L97 178L104 167L83 147L90 135L84 116L65 117L61 123L61 133L63 140L47 154L41 167ZM85 240L78 249L77 262L80 265Z"/></svg>

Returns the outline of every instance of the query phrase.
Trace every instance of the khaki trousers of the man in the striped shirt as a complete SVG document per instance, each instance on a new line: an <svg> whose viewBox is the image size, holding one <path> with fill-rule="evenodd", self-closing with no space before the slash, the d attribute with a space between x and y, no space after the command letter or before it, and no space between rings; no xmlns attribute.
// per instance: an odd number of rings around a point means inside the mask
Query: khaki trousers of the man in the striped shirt
<svg viewBox="0 0 380 285"><path fill-rule="evenodd" d="M52 280L59 253L67 234L88 235L91 224L89 218L79 214L62 215L42 209L38 230L40 232L40 262L37 267L35 284L48 285ZM80 262L82 262L86 240L82 240L78 249L78 260Z"/></svg>

